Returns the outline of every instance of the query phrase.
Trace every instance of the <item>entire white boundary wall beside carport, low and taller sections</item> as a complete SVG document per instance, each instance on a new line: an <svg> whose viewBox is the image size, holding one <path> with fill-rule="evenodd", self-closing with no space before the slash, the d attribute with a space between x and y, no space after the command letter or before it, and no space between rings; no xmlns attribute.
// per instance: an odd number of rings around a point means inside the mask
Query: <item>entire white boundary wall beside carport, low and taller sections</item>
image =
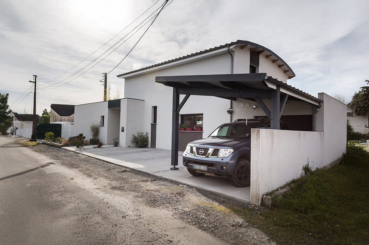
<svg viewBox="0 0 369 245"><path fill-rule="evenodd" d="M300 177L307 161L323 168L346 152L346 105L325 93L318 97L324 101L317 113L321 132L252 129L251 203L259 205L265 193Z"/></svg>

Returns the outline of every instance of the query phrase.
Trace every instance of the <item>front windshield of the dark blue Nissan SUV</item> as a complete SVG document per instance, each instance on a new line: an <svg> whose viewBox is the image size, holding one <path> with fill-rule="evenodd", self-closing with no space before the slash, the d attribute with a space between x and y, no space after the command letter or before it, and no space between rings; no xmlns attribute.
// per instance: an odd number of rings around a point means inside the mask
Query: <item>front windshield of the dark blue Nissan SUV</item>
<svg viewBox="0 0 369 245"><path fill-rule="evenodd" d="M218 127L209 137L234 137L248 139L251 137L251 128L243 123L238 124L223 124Z"/></svg>

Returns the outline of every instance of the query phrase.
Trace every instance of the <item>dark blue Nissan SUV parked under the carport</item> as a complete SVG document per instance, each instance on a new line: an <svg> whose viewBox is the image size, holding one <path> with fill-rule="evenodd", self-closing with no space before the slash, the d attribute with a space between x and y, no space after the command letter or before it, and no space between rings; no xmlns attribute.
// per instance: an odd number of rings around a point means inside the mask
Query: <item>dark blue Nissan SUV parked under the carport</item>
<svg viewBox="0 0 369 245"><path fill-rule="evenodd" d="M193 176L226 175L235 186L249 186L251 128L268 129L270 121L238 119L220 125L208 138L187 145L183 165Z"/></svg>

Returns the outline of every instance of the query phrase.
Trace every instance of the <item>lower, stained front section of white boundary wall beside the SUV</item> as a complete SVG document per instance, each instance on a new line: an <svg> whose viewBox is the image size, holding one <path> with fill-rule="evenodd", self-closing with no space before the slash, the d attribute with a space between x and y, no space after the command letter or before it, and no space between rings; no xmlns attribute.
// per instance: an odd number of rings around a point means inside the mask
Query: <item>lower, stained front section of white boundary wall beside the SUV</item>
<svg viewBox="0 0 369 245"><path fill-rule="evenodd" d="M252 129L251 203L300 177L308 158L310 166L324 166L323 141L323 132Z"/></svg>

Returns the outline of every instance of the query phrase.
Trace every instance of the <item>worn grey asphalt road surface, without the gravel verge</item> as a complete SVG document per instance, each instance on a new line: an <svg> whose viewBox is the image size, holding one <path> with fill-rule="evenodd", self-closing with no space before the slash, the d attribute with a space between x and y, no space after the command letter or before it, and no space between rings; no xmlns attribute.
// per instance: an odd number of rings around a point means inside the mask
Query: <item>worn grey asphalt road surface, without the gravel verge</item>
<svg viewBox="0 0 369 245"><path fill-rule="evenodd" d="M100 181L11 139L0 137L2 245L227 244L168 212L91 188Z"/></svg>

